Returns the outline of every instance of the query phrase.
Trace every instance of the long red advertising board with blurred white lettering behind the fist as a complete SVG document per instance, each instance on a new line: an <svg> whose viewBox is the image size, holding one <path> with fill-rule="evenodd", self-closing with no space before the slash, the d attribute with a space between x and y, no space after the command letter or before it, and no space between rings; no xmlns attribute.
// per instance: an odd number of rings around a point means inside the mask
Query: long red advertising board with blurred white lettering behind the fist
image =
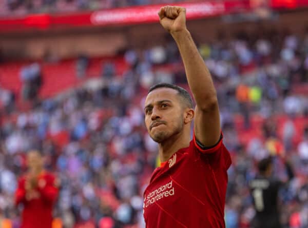
<svg viewBox="0 0 308 228"><path fill-rule="evenodd" d="M186 8L187 19L199 19L249 10L248 0L177 3ZM79 12L74 14L34 14L20 18L0 19L0 32L25 29L50 29L76 26L111 26L158 22L163 5Z"/></svg>

